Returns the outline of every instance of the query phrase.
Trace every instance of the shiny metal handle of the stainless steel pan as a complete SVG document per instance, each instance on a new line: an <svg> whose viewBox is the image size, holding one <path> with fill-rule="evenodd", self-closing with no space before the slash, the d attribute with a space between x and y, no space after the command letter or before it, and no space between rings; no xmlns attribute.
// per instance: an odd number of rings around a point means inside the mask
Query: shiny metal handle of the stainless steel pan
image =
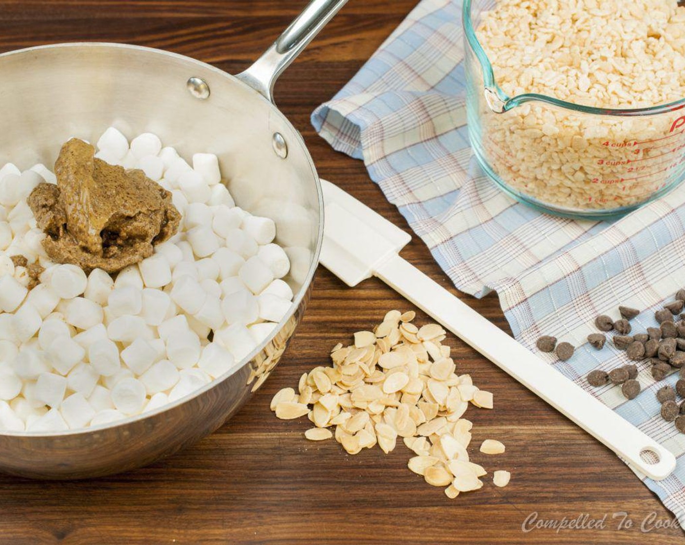
<svg viewBox="0 0 685 545"><path fill-rule="evenodd" d="M236 77L273 102L273 84L347 0L312 0L278 39Z"/></svg>

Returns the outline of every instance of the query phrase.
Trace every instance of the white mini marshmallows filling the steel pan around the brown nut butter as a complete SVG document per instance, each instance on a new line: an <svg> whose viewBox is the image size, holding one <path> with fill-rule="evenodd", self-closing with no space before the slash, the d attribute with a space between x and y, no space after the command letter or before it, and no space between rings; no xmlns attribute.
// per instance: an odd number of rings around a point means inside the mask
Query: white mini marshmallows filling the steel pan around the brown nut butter
<svg viewBox="0 0 685 545"><path fill-rule="evenodd" d="M191 167L154 134L129 145L114 128L97 148L172 192L179 232L114 279L86 276L49 260L26 204L55 175L0 169L0 431L64 431L162 407L234 369L290 308L275 224L235 206L216 156L195 154ZM15 255L45 267L30 291Z"/></svg>

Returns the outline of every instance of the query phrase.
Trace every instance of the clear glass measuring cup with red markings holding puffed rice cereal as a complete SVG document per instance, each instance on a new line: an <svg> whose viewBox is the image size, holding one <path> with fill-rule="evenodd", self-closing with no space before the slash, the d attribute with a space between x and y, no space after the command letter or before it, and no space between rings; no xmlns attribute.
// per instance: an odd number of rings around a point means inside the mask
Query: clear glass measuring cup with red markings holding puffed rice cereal
<svg viewBox="0 0 685 545"><path fill-rule="evenodd" d="M685 179L685 98L651 108L593 108L509 97L475 34L495 0L464 0L466 115L480 165L506 193L547 213L607 219Z"/></svg>

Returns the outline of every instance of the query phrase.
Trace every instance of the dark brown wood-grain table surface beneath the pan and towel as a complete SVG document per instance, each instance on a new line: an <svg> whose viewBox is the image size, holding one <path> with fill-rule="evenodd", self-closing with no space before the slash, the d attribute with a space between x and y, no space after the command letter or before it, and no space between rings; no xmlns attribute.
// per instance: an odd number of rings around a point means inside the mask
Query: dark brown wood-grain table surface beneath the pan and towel
<svg viewBox="0 0 685 545"><path fill-rule="evenodd" d="M305 0L1 0L0 49L74 40L160 47L236 73L258 57ZM282 76L279 107L302 132L322 177L407 229L362 162L314 134L310 112L349 80L412 9L414 0L351 0ZM1 85L1 84L0 84ZM421 241L403 252L449 282ZM497 298L463 300L508 330ZM406 467L403 446L348 456L334 441L303 438L306 419L277 420L269 401L296 386L329 349L392 308L412 305L377 280L348 289L327 271L295 340L253 400L196 446L142 470L83 482L0 476L0 543L35 544L666 544L677 527L641 532L649 516L671 520L656 496L608 449L482 356L450 336L459 372L493 391L495 410L469 409L473 444L496 437L506 453L489 467L508 487L449 500ZM417 321L424 322L418 314ZM473 449L477 453L477 449ZM603 528L523 531L538 520L604 520ZM651 515L653 513L653 515ZM626 520L632 522L627 528ZM623 524L621 524L623 522ZM647 528L654 524L647 522Z"/></svg>

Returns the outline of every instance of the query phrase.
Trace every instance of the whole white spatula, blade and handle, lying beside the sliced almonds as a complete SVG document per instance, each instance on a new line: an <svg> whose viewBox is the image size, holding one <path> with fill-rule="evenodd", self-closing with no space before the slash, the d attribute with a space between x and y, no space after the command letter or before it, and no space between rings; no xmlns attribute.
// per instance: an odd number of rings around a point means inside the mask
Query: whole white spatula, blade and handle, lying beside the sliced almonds
<svg viewBox="0 0 685 545"><path fill-rule="evenodd" d="M399 250L410 235L330 182L321 184L324 267L349 286L377 276L633 468L656 480L671 474L675 457L669 450L404 261ZM643 451L653 452L658 462L645 461L640 457Z"/></svg>

